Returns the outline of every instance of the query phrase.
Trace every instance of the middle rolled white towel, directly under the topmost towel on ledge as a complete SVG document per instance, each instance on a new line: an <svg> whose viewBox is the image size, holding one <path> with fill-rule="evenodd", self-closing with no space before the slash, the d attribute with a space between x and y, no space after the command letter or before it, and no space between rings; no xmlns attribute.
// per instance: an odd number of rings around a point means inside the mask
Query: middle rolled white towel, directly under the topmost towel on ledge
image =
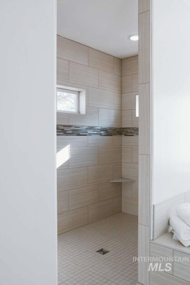
<svg viewBox="0 0 190 285"><path fill-rule="evenodd" d="M190 227L179 216L170 216L170 226L181 240L190 240Z"/></svg>

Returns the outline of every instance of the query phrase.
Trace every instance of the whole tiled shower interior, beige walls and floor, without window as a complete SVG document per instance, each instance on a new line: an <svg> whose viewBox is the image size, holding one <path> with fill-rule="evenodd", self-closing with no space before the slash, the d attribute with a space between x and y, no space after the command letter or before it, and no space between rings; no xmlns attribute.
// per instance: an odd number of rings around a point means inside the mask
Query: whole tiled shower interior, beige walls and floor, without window
<svg viewBox="0 0 190 285"><path fill-rule="evenodd" d="M137 255L138 118L135 99L138 56L121 60L58 36L57 84L86 93L86 114L57 113L57 156L65 157L64 163L57 168L58 283L136 284L137 265L131 260L132 255ZM110 182L119 178L135 182ZM123 227L123 234L115 227L117 221ZM108 227L107 231L104 227ZM108 236L107 232L110 232ZM95 233L96 246L92 247ZM124 233L125 242L122 241ZM111 242L112 235L116 235L117 243ZM131 255L126 238L134 240ZM64 257L65 240L69 247L75 248L72 253L75 258ZM95 249L105 246L110 252L99 257ZM109 274L104 278L101 273L99 277L104 282L98 281L89 267L85 270L76 267L75 274L69 271L69 266L76 266L75 259L80 261L81 257L82 262L83 251L93 252L95 266L103 258L105 271L112 255L119 259L123 251L130 261L120 258L118 266L124 264L122 270L118 268L117 278ZM92 276L85 280L85 274Z"/></svg>

